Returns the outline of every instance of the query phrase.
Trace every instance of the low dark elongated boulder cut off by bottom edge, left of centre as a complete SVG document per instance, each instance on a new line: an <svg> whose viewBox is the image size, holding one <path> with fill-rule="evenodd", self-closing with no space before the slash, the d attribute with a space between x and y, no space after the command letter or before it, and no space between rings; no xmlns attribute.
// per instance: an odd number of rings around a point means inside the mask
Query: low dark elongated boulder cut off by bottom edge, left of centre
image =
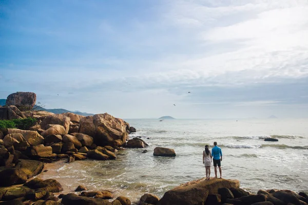
<svg viewBox="0 0 308 205"><path fill-rule="evenodd" d="M67 194L62 197L64 205L111 205L111 202L100 198L89 198L86 196L77 196L76 194Z"/></svg>

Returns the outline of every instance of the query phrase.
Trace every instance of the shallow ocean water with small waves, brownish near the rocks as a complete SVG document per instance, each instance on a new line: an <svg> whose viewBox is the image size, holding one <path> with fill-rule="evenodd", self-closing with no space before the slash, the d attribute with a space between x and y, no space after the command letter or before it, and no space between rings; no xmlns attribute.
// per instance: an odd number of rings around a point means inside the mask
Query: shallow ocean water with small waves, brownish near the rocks
<svg viewBox="0 0 308 205"><path fill-rule="evenodd" d="M181 183L205 177L202 152L217 141L222 149L222 176L238 179L241 188L308 191L308 119L126 119L149 144L119 151L117 160L59 161L38 177L54 178L73 192L110 190L136 202L144 193L163 194ZM279 141L264 141L274 137ZM149 138L149 139L147 139ZM176 157L153 156L155 147L176 151ZM214 177L214 167L211 167Z"/></svg>

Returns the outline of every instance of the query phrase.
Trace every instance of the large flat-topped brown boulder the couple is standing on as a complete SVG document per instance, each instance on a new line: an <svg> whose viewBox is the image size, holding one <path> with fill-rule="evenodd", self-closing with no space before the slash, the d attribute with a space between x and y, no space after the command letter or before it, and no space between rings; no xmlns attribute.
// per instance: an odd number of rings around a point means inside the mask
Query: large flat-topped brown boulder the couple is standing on
<svg viewBox="0 0 308 205"><path fill-rule="evenodd" d="M204 204L208 194L218 194L220 188L239 188L240 182L233 179L205 178L190 181L166 192L158 202L163 204Z"/></svg>

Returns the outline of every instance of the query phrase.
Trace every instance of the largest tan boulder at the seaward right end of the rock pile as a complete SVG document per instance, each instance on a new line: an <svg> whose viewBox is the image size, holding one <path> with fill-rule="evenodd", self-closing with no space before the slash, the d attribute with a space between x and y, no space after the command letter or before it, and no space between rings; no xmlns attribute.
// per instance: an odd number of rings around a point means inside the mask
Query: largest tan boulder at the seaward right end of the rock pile
<svg viewBox="0 0 308 205"><path fill-rule="evenodd" d="M80 120L80 133L92 136L98 146L123 146L128 137L127 122L108 113L84 117Z"/></svg>

